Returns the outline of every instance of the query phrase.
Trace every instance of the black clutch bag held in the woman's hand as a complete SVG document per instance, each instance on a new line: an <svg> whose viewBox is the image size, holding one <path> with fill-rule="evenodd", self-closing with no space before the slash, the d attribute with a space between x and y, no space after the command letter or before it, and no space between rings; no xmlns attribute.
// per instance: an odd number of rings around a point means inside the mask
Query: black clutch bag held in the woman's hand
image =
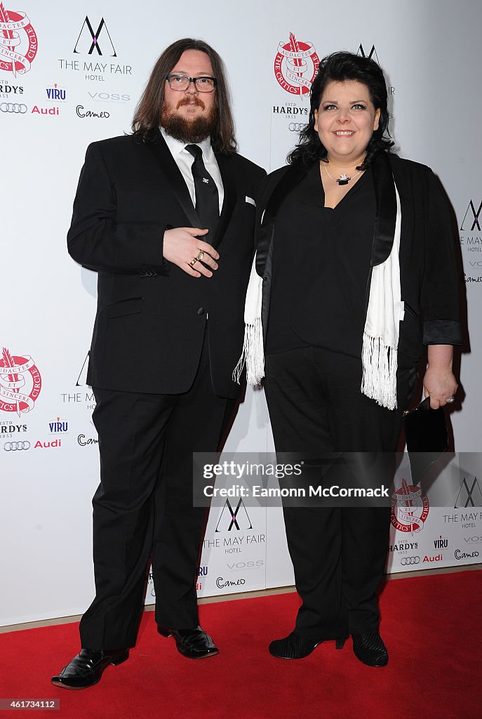
<svg viewBox="0 0 482 719"><path fill-rule="evenodd" d="M442 407L430 408L430 397L403 415L412 483L417 485L425 472L448 450L447 421Z"/></svg>

